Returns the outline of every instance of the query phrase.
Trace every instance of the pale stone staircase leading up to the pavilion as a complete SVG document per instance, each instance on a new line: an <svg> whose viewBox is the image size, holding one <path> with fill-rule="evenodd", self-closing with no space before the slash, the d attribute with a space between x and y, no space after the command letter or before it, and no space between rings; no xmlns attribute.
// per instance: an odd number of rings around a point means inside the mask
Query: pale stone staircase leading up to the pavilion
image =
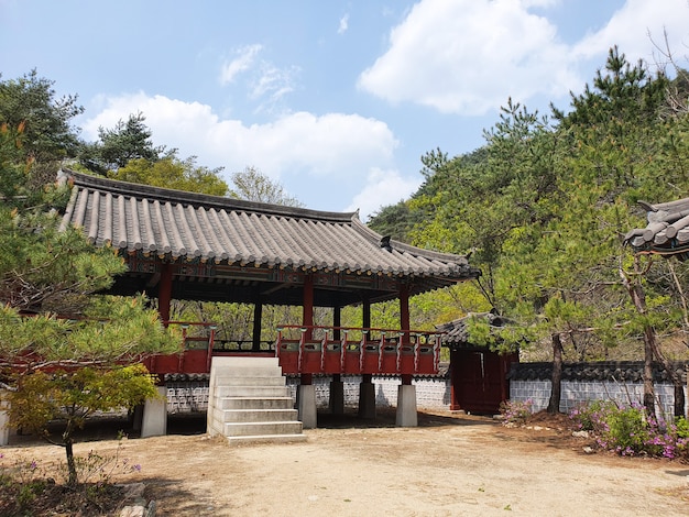
<svg viewBox="0 0 689 517"><path fill-rule="evenodd" d="M231 443L304 441L277 358L214 358L207 431Z"/></svg>

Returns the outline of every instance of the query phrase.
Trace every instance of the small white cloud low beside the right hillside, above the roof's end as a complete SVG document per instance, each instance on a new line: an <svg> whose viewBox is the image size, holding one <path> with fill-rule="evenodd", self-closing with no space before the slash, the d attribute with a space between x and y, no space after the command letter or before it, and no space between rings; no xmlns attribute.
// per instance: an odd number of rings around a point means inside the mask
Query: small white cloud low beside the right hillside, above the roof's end
<svg viewBox="0 0 689 517"><path fill-rule="evenodd" d="M359 210L359 218L367 222L369 217L382 207L407 199L422 184L420 177L403 178L397 170L383 170L372 167L363 188L354 196L344 210Z"/></svg>

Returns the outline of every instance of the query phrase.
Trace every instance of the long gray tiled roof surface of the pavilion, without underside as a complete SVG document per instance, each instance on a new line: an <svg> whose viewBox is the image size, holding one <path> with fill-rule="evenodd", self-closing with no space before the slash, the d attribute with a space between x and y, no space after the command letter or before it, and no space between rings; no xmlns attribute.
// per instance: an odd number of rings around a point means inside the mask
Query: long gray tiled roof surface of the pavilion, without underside
<svg viewBox="0 0 689 517"><path fill-rule="evenodd" d="M96 245L176 261L254 264L434 277L451 284L478 276L461 255L390 241L356 212L327 212L183 193L72 170L63 224L84 228Z"/></svg>

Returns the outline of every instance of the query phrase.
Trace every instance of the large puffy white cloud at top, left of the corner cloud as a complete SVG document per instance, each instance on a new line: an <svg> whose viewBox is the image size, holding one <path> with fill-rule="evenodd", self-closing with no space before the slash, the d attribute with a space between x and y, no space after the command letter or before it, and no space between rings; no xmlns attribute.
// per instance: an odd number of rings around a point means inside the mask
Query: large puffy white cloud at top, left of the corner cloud
<svg viewBox="0 0 689 517"><path fill-rule="evenodd" d="M508 96L567 92L578 82L555 25L514 0L424 0L390 35L389 51L359 78L391 102L483 114ZM538 2L547 6L548 2Z"/></svg>

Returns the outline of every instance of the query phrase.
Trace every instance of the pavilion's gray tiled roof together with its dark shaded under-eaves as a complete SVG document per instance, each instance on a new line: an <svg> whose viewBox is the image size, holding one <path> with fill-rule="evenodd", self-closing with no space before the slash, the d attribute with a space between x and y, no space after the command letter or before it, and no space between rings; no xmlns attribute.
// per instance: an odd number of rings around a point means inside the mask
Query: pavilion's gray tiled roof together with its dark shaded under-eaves
<svg viewBox="0 0 689 517"><path fill-rule="evenodd" d="M184 193L72 170L62 175L73 183L63 224L81 227L92 243L112 246L129 263L127 278L113 288L120 294L146 290L142 287L151 286L165 262L188 286L177 285L177 299L260 296L289 305L300 305L300 297L285 293L305 274L316 276L316 289L329 292L316 296L321 306L396 298L400 283L417 294L479 275L464 256L390 240L357 212Z"/></svg>

